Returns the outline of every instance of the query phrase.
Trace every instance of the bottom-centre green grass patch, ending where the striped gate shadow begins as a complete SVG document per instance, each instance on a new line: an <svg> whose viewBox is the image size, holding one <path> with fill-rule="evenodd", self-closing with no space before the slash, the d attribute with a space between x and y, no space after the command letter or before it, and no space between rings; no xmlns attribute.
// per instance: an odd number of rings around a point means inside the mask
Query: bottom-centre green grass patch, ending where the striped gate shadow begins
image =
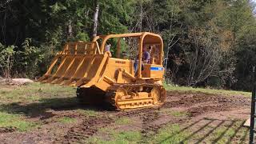
<svg viewBox="0 0 256 144"><path fill-rule="evenodd" d="M182 131L178 124L170 124L162 127L158 133L148 131L149 138L143 138L142 133L138 130L113 130L110 127L105 127L99 130L100 135L86 139L86 143L179 143L190 135L190 131ZM156 132L156 131L154 131ZM188 142L184 142L188 143Z"/></svg>

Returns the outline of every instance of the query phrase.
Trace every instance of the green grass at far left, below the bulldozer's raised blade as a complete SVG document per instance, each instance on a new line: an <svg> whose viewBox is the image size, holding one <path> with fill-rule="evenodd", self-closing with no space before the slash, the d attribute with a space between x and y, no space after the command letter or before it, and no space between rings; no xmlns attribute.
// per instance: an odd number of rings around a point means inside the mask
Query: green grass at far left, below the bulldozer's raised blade
<svg viewBox="0 0 256 144"><path fill-rule="evenodd" d="M30 130L40 124L26 121L26 116L40 114L54 106L76 105L75 88L30 83L24 86L0 86L0 127L15 127L19 131ZM71 122L62 118L60 122Z"/></svg>

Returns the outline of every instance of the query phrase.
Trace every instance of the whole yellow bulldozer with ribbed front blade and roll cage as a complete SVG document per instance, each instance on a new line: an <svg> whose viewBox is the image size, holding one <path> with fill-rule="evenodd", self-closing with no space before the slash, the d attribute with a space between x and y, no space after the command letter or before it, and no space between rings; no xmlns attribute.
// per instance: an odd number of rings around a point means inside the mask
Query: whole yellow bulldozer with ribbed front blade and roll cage
<svg viewBox="0 0 256 144"><path fill-rule="evenodd" d="M110 39L116 38L116 54L105 51ZM124 38L138 40L137 58L121 58ZM146 47L153 50L150 61L142 61ZM114 49L111 47L111 49ZM158 34L100 35L92 42L68 42L52 60L39 82L77 86L81 102L106 102L117 110L161 106L166 99L162 86L164 68L163 42ZM138 70L134 70L134 65Z"/></svg>

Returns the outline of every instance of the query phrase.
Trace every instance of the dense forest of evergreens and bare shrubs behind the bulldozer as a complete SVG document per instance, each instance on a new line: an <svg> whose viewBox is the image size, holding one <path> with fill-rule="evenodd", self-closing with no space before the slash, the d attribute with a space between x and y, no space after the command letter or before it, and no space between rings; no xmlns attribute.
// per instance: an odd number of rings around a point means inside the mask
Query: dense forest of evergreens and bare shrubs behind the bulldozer
<svg viewBox="0 0 256 144"><path fill-rule="evenodd" d="M38 78L65 42L142 31L164 40L167 83L250 90L256 11L249 0L4 0L0 75Z"/></svg>

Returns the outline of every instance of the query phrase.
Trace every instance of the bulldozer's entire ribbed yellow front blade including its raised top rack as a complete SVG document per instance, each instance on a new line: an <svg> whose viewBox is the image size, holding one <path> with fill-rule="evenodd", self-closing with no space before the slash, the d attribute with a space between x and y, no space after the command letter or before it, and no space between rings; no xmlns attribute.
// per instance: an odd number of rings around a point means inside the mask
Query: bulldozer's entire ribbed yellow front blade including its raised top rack
<svg viewBox="0 0 256 144"><path fill-rule="evenodd" d="M52 60L42 83L62 86L80 86L95 81L102 71L107 54L101 54L97 42L70 42ZM95 77L95 78L94 78Z"/></svg>

